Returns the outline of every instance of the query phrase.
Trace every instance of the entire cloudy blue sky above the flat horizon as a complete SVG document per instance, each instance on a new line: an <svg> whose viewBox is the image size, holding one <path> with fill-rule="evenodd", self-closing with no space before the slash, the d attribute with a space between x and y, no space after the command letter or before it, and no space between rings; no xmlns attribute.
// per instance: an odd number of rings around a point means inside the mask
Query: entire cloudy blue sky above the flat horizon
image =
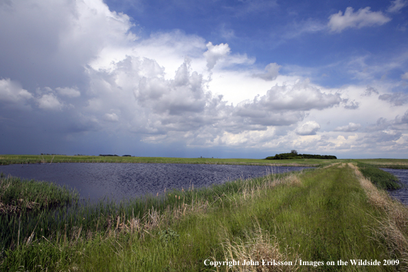
<svg viewBox="0 0 408 272"><path fill-rule="evenodd" d="M408 0L0 0L0 154L408 158Z"/></svg>

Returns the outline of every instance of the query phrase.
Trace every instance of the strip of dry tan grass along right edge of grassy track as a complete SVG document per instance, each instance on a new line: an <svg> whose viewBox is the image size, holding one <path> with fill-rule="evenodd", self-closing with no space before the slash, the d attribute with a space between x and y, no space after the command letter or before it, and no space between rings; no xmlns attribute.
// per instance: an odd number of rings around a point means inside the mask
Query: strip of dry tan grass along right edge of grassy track
<svg viewBox="0 0 408 272"><path fill-rule="evenodd" d="M408 271L408 208L391 199L387 192L378 190L352 163L348 165L354 169L370 204L386 214L386 220L374 218L379 226L377 229L372 229L374 239L385 242L389 253L403 263L400 268Z"/></svg>

